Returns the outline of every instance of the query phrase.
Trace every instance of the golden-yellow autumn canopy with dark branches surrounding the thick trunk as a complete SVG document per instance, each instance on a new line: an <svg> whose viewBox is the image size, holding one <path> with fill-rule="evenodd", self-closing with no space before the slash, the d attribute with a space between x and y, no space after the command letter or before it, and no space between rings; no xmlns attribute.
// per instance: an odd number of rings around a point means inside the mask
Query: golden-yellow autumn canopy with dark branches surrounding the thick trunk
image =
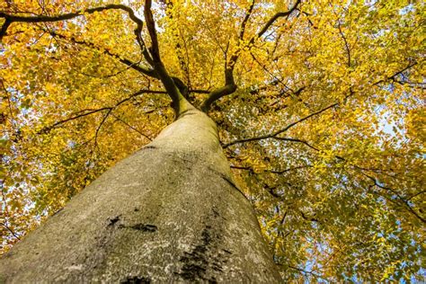
<svg viewBox="0 0 426 284"><path fill-rule="evenodd" d="M1 251L155 138L177 92L217 123L285 280L421 277L425 11L2 2Z"/></svg>

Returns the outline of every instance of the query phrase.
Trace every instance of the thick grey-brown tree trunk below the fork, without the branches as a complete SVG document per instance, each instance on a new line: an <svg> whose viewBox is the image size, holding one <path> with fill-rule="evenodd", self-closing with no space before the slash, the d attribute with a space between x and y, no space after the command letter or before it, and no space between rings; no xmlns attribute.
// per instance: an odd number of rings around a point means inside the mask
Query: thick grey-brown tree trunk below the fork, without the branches
<svg viewBox="0 0 426 284"><path fill-rule="evenodd" d="M255 282L280 276L212 120L184 111L0 260L0 282Z"/></svg>

